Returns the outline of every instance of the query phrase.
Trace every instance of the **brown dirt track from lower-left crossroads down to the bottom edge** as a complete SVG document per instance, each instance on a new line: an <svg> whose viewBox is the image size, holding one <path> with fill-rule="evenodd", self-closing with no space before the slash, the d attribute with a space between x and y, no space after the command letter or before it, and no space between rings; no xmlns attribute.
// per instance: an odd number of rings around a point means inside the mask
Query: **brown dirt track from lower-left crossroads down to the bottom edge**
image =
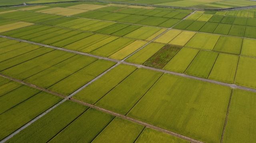
<svg viewBox="0 0 256 143"><path fill-rule="evenodd" d="M182 139L186 139L187 141L191 141L192 143L203 143L203 142L201 142L201 141L192 139L192 138L190 138L190 137L186 137L186 136L184 136L184 135L180 135L180 134L178 134L178 133L174 133L174 132L172 132L172 131L168 131L168 130L166 130L166 129L162 129L161 127L157 127L157 126L155 126L155 125L151 125L151 124L149 124L149 123L145 123L145 122L143 122L143 121L139 121L139 120L137 120L137 119L133 119L133 118L130 118L130 117L127 117L127 116L124 116L124 115L121 115L121 114L118 114L118 113L115 113L115 112L106 110L106 109L104 109L104 108L100 108L100 107L98 107L98 106L95 106L95 105L92 105L92 104L88 104L88 103L86 103L86 102L82 102L82 101L80 101L80 100L76 100L76 99L74 99L74 98L71 98L70 100L75 101L75 102L78 102L78 103L80 103L80 104L84 104L84 105L86 105L86 106L89 106L90 108L94 108L94 109L97 109L97 110L106 112L106 113L108 113L108 114L112 114L112 115L114 115L114 116L118 116L118 117L123 118L123 119L128 119L128 120L130 120L130 121L139 123L139 124L141 124L141 125L145 125L146 127L150 127L150 128L152 128L152 129L156 129L156 130L158 130L158 131L161 131L161 132L164 132L164 133L168 133L168 134L170 134L170 135L174 135L174 136L180 137L180 138L182 138Z"/></svg>

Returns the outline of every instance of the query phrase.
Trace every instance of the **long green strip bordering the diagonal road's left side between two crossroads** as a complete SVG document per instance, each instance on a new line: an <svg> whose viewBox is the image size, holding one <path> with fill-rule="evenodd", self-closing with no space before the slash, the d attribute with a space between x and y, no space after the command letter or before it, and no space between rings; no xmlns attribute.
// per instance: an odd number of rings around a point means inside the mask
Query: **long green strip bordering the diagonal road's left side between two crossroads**
<svg viewBox="0 0 256 143"><path fill-rule="evenodd" d="M112 61L97 60L63 80L60 80L48 89L68 96L115 64L116 63Z"/></svg>

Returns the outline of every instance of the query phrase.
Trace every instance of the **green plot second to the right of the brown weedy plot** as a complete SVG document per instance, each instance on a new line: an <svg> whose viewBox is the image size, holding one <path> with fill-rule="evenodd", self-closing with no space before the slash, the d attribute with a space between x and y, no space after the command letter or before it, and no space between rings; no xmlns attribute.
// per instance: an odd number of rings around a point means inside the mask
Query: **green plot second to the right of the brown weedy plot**
<svg viewBox="0 0 256 143"><path fill-rule="evenodd" d="M217 57L217 52L201 50L189 65L185 73L202 78L208 78Z"/></svg>

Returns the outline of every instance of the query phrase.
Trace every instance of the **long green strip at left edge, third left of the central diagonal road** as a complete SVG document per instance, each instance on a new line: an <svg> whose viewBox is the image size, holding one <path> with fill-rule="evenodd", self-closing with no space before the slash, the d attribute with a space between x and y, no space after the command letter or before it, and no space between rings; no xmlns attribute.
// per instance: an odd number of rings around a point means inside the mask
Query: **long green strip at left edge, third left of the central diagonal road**
<svg viewBox="0 0 256 143"><path fill-rule="evenodd" d="M52 51L50 53L44 54L30 61L26 61L12 68L1 71L0 73L24 80L40 71L48 69L70 57L73 57L74 53L68 53L64 51Z"/></svg>

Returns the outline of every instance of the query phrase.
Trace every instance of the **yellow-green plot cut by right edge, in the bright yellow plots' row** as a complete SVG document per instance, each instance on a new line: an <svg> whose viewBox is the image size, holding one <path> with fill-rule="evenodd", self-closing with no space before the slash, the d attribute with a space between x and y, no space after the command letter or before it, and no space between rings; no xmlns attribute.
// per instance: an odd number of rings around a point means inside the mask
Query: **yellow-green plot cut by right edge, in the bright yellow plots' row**
<svg viewBox="0 0 256 143"><path fill-rule="evenodd" d="M256 57L256 40L254 39L244 39L242 45L241 55Z"/></svg>

